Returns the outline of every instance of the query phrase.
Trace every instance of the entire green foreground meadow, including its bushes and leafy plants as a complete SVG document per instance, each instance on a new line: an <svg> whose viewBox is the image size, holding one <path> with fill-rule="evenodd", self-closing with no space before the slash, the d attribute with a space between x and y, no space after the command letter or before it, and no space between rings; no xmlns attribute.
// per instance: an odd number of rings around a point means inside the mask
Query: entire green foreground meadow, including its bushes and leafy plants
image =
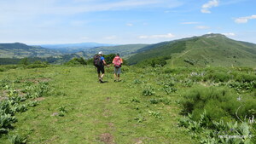
<svg viewBox="0 0 256 144"><path fill-rule="evenodd" d="M0 70L0 143L256 143L253 68Z"/></svg>

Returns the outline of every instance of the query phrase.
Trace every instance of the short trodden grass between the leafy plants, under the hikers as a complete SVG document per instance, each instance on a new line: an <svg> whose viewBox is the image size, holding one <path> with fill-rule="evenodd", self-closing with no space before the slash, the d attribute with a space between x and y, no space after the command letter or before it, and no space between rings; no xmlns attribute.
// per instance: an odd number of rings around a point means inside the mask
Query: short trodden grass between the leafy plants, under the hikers
<svg viewBox="0 0 256 144"><path fill-rule="evenodd" d="M49 95L37 107L15 115L18 122L9 135L24 135L28 143L195 143L177 126L179 95L162 92L154 72L138 74L123 68L126 72L119 83L113 82L113 68L108 68L105 84L97 82L92 66L1 72L1 79L19 78L20 85L24 80L47 78L50 86ZM143 83L133 84L136 78ZM156 95L143 95L148 86L155 88ZM132 101L134 97L139 102ZM169 102L154 104L152 98L168 98ZM61 109L66 111L64 116L55 115ZM8 136L2 135L0 143L9 143Z"/></svg>

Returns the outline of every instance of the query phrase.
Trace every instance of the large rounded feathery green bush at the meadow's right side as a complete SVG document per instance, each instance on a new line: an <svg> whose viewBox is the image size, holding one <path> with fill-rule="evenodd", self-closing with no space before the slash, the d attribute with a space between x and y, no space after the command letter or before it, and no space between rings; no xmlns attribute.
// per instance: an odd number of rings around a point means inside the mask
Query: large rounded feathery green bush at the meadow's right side
<svg viewBox="0 0 256 144"><path fill-rule="evenodd" d="M227 88L198 87L183 94L185 100L183 113L192 113L192 118L198 120L201 113L207 111L207 117L211 120L218 120L224 117L236 118L236 110L241 106L241 101L237 101L238 95ZM247 103L246 103L247 105ZM246 110L251 107L243 107L241 116L247 115Z"/></svg>

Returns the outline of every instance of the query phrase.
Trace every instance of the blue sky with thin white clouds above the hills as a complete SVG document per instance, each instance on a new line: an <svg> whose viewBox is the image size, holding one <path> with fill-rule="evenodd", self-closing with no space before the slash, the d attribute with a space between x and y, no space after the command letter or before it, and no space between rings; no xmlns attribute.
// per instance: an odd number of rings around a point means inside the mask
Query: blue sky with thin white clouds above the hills
<svg viewBox="0 0 256 144"><path fill-rule="evenodd" d="M221 33L256 43L255 0L0 0L0 43L160 43Z"/></svg>

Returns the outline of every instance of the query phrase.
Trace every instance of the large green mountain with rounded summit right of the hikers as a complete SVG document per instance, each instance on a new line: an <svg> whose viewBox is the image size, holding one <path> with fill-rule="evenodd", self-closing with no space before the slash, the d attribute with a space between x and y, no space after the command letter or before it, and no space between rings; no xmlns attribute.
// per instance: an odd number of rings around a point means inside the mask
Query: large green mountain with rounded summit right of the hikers
<svg viewBox="0 0 256 144"><path fill-rule="evenodd" d="M171 66L256 66L256 44L207 34L148 45L128 62L136 64L160 56L172 56Z"/></svg>

